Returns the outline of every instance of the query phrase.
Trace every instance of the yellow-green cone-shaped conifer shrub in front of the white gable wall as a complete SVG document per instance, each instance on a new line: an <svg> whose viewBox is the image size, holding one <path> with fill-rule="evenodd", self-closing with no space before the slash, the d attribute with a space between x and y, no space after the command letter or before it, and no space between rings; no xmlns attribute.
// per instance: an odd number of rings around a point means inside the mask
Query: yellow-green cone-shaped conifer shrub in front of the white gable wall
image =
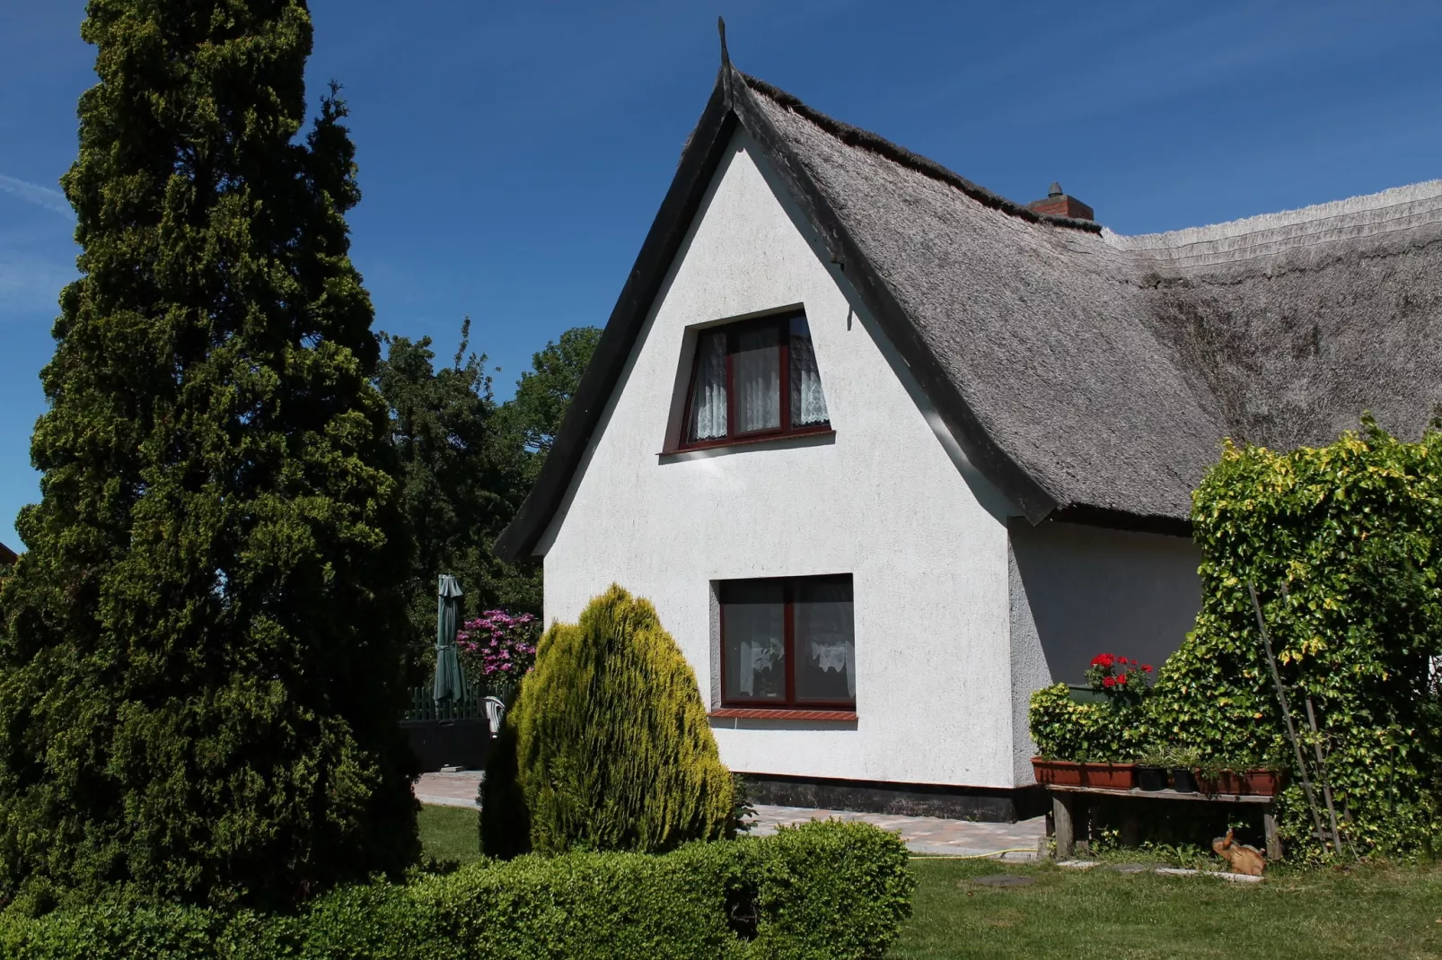
<svg viewBox="0 0 1442 960"><path fill-rule="evenodd" d="M506 726L486 777L487 853L522 852L522 830L561 853L666 850L728 829L731 775L695 672L655 607L620 587L547 631Z"/></svg>

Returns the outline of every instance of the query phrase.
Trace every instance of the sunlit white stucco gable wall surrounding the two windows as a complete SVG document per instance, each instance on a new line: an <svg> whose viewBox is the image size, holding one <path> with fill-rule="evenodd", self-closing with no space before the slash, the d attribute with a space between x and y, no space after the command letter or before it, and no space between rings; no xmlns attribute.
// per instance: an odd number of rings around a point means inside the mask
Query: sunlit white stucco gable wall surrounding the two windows
<svg viewBox="0 0 1442 960"><path fill-rule="evenodd" d="M770 176L738 134L542 538L547 620L574 620L619 582L656 604L720 706L711 584L849 572L859 719L715 721L722 760L750 773L1009 787L1008 506ZM795 304L835 440L658 457L694 327Z"/></svg>

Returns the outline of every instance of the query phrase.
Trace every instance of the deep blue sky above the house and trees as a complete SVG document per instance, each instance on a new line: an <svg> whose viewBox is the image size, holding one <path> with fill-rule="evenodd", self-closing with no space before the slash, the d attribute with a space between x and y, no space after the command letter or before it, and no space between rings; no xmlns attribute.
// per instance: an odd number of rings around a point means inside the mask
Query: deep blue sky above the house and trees
<svg viewBox="0 0 1442 960"><path fill-rule="evenodd" d="M701 114L737 65L1017 200L1051 180L1122 234L1442 176L1442 4L313 0L313 94L352 107L352 255L376 327L509 395L531 353L604 323ZM0 541L37 499L56 180L94 82L84 3L0 0Z"/></svg>

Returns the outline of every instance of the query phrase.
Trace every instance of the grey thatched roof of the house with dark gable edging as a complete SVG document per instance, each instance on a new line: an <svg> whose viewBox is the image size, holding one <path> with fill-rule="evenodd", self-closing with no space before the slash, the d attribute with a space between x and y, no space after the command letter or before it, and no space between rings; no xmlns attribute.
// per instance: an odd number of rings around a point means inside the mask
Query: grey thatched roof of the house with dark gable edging
<svg viewBox="0 0 1442 960"><path fill-rule="evenodd" d="M1442 402L1442 180L1119 236L1034 213L724 65L502 555L534 549L565 496L737 124L1032 522L1185 533L1223 437L1321 444L1363 411L1417 435Z"/></svg>

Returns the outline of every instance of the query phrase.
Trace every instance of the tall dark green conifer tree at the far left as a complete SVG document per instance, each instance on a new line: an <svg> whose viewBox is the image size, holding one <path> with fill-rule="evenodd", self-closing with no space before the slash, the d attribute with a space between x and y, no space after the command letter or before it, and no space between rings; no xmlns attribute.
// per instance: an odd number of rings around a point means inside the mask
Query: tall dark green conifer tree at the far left
<svg viewBox="0 0 1442 960"><path fill-rule="evenodd" d="M410 562L303 0L91 0L42 500L0 608L0 892L293 904L417 852Z"/></svg>

